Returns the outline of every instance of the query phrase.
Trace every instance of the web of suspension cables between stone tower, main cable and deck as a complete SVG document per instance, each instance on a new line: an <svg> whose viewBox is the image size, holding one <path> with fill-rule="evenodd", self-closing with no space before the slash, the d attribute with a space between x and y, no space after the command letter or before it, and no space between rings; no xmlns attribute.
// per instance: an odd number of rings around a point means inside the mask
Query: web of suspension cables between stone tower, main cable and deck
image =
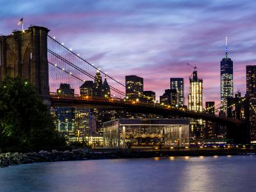
<svg viewBox="0 0 256 192"><path fill-rule="evenodd" d="M55 92L60 83L68 83L72 88L75 88L75 92L79 92L79 86L82 84L80 81L94 80L96 70L99 70L101 74L108 77L108 84L111 90L111 95L116 97L124 97L125 85L102 72L99 68L93 66L92 63L84 60L75 54L72 50L65 47L63 44L48 36L48 61L49 65L49 80L51 92ZM54 68L58 65L58 71L54 71ZM51 66L51 67L50 67ZM56 70L56 69L55 69ZM63 73L65 71L65 73ZM61 75L62 73L62 75ZM66 74L66 76L64 75ZM72 74L72 76L67 75ZM65 77L64 77L65 76ZM55 79L54 79L55 77ZM70 78L72 77L72 78ZM79 82L77 82L79 80Z"/></svg>

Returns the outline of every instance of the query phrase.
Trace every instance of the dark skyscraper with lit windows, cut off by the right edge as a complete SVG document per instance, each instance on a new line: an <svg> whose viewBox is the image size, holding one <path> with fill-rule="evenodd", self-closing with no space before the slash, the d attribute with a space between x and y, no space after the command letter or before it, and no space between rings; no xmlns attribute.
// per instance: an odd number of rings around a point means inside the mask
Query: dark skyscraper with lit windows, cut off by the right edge
<svg viewBox="0 0 256 192"><path fill-rule="evenodd" d="M250 121L256 124L256 65L246 66L246 97L250 99Z"/></svg>

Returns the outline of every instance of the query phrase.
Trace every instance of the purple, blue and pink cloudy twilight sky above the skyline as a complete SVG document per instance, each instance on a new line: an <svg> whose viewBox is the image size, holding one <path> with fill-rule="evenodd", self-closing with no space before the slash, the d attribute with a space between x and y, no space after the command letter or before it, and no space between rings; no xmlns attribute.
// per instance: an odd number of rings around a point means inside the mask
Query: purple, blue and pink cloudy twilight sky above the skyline
<svg viewBox="0 0 256 192"><path fill-rule="evenodd" d="M144 78L144 90L159 95L170 77L184 77L186 101L193 68L204 80L204 102L220 102L220 60L234 61L234 91L246 90L246 65L256 64L256 2L246 1L14 1L0 0L0 34L30 24L125 81Z"/></svg>

